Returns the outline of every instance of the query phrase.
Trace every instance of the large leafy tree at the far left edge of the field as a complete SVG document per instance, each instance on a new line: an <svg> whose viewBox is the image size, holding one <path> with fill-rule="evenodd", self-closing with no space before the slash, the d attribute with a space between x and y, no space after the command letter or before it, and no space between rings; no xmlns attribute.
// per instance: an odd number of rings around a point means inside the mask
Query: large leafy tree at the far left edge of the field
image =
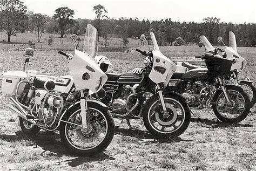
<svg viewBox="0 0 256 171"><path fill-rule="evenodd" d="M0 25L8 35L8 42L15 31L23 28L26 16L26 6L21 1L3 1L0 3Z"/></svg>

